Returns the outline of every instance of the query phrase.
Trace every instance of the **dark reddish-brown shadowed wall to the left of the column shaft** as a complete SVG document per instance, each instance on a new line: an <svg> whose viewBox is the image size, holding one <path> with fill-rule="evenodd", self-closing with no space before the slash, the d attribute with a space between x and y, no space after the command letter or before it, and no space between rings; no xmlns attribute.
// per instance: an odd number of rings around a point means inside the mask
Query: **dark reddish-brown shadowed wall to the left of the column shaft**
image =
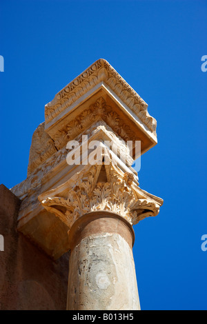
<svg viewBox="0 0 207 324"><path fill-rule="evenodd" d="M66 310L69 254L53 261L17 232L20 203L0 185L0 310Z"/></svg>

